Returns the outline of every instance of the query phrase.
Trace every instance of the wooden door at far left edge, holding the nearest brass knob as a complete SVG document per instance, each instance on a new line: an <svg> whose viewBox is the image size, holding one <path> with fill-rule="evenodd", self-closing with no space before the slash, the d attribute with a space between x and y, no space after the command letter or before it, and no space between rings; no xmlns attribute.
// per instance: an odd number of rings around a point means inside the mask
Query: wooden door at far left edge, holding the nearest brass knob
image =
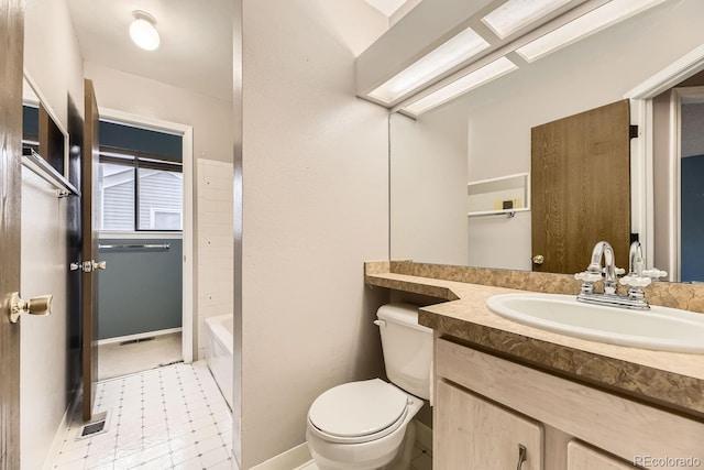
<svg viewBox="0 0 704 470"><path fill-rule="evenodd" d="M16 470L20 324L10 323L10 296L20 292L23 0L0 0L0 469Z"/></svg>

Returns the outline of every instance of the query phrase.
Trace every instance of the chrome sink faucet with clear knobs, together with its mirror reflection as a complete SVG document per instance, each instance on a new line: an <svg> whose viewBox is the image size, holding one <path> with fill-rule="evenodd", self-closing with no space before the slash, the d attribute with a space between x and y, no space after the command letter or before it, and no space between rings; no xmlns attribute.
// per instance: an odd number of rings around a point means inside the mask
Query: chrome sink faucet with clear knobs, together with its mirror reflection
<svg viewBox="0 0 704 470"><path fill-rule="evenodd" d="M646 265L640 242L630 244L628 256L628 274L622 277L619 283L628 286L627 295L619 295L617 292L616 276L624 274L624 270L616 267L614 250L606 241L600 241L592 251L592 262L586 271L576 273L574 278L582 281L582 287L576 299L591 304L612 305L617 307L646 310L650 308L646 302L646 294L642 287L649 285L658 277L667 276L668 273L658 269L644 270ZM604 260L604 267L602 267ZM594 289L594 283L604 280L603 293Z"/></svg>

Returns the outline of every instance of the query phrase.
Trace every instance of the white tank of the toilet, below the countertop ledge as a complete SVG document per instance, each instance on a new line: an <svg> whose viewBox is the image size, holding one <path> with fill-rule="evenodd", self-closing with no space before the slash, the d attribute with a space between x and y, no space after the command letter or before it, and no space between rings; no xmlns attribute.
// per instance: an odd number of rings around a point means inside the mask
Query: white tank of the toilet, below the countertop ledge
<svg viewBox="0 0 704 470"><path fill-rule="evenodd" d="M432 329L418 325L418 307L383 305L376 311L386 376L420 398L430 398L432 386Z"/></svg>

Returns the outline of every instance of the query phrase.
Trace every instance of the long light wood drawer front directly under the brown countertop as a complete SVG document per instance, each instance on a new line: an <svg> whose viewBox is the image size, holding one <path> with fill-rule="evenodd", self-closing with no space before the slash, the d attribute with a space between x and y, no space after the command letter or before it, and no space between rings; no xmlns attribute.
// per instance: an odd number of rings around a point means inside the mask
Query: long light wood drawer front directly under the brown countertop
<svg viewBox="0 0 704 470"><path fill-rule="evenodd" d="M436 376L438 381L452 381L629 462L638 456L692 458L704 462L704 424L701 422L444 339L436 340ZM436 382L437 386L439 383Z"/></svg>

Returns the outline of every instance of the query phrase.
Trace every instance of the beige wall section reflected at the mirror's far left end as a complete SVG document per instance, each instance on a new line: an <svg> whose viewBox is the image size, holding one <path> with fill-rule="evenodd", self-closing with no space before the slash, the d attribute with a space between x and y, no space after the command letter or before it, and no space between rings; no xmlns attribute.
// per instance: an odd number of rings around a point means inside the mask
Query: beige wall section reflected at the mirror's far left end
<svg viewBox="0 0 704 470"><path fill-rule="evenodd" d="M453 107L391 117L392 260L466 263L466 131Z"/></svg>

